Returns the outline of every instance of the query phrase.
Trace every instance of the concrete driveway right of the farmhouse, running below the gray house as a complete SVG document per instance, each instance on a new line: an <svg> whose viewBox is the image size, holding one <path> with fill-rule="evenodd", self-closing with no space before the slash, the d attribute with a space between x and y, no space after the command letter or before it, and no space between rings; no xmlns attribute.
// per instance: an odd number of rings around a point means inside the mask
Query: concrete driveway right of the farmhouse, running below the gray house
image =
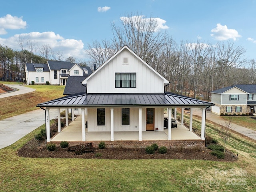
<svg viewBox="0 0 256 192"><path fill-rule="evenodd" d="M200 108L194 108L193 109L193 115L198 115L198 116L202 116L202 110ZM206 120L210 120L214 123L217 123L217 124L222 124L225 122L224 119L222 119L219 115L213 113L213 112L210 112L210 111L206 111ZM236 124L233 124L231 123L231 128L234 128L234 131L240 133L240 134L243 134L247 137L250 137L254 140L256 140L256 131L254 130L251 130L251 129L248 129L246 127L242 127L242 126L239 126L239 125L236 125Z"/></svg>

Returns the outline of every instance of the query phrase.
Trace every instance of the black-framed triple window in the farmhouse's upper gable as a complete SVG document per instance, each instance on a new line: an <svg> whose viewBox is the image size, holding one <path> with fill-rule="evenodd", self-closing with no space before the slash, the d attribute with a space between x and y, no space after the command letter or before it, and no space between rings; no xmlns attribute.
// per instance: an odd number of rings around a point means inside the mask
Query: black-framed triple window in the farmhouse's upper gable
<svg viewBox="0 0 256 192"><path fill-rule="evenodd" d="M115 88L136 88L136 73L115 73Z"/></svg>

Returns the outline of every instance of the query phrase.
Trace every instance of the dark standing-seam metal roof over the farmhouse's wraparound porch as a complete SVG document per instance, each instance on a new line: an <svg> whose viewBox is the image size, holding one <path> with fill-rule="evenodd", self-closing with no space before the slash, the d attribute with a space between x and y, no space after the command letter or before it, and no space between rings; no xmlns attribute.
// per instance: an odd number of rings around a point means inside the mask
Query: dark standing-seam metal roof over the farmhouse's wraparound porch
<svg viewBox="0 0 256 192"><path fill-rule="evenodd" d="M170 93L76 94L38 104L38 107L210 106L211 102Z"/></svg>

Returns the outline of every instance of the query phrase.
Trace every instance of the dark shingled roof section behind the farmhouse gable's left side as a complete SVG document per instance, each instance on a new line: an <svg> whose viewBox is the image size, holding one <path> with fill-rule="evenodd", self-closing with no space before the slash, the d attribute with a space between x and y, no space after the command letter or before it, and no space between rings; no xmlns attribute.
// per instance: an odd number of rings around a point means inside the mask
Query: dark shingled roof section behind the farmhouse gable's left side
<svg viewBox="0 0 256 192"><path fill-rule="evenodd" d="M83 86L82 81L87 77L88 76L69 76L63 94L86 93L86 87L84 87L86 84Z"/></svg>

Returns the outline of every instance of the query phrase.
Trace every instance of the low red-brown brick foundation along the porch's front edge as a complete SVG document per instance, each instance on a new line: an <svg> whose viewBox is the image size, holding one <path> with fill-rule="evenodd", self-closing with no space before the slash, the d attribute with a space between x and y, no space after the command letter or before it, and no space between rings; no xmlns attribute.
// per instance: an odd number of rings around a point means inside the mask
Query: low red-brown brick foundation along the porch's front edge
<svg viewBox="0 0 256 192"><path fill-rule="evenodd" d="M60 144L61 141L47 142L47 143L55 143ZM94 147L98 147L98 144L101 141L68 141L69 146L92 143ZM205 140L122 140L122 141L104 141L106 147L127 147L127 148L145 148L153 143L158 144L158 146L166 146L167 148L182 146L184 148L192 147L200 145L202 147L205 146Z"/></svg>

